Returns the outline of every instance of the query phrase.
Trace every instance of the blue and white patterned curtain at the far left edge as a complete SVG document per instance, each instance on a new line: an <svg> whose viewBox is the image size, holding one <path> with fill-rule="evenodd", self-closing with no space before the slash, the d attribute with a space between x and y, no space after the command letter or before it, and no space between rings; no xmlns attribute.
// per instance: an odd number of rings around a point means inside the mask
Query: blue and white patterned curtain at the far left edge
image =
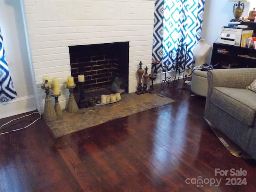
<svg viewBox="0 0 256 192"><path fill-rule="evenodd" d="M16 96L17 93L12 85L12 78L4 56L4 44L0 28L0 102L10 101Z"/></svg>

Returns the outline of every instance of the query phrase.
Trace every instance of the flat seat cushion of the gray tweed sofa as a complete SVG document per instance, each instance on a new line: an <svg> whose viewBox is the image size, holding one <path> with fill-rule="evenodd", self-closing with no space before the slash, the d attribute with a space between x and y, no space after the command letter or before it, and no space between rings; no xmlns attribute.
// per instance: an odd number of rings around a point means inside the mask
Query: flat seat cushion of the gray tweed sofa
<svg viewBox="0 0 256 192"><path fill-rule="evenodd" d="M242 121L253 126L256 118L256 93L247 89L215 87L212 103Z"/></svg>

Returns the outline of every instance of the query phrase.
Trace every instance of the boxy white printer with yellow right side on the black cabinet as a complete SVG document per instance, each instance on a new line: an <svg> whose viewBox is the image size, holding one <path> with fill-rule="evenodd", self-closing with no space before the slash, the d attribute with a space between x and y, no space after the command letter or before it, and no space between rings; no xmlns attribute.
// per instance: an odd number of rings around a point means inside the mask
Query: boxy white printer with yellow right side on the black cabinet
<svg viewBox="0 0 256 192"><path fill-rule="evenodd" d="M219 43L246 47L246 40L252 37L253 30L250 28L233 28L222 27L220 28Z"/></svg>

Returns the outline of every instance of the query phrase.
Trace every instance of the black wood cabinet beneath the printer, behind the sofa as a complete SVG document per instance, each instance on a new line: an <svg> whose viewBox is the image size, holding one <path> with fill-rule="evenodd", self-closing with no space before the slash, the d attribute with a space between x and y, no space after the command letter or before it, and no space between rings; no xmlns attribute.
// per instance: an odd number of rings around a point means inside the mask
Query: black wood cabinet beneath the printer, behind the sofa
<svg viewBox="0 0 256 192"><path fill-rule="evenodd" d="M217 68L254 68L256 67L256 49L214 43L212 48L212 66Z"/></svg>

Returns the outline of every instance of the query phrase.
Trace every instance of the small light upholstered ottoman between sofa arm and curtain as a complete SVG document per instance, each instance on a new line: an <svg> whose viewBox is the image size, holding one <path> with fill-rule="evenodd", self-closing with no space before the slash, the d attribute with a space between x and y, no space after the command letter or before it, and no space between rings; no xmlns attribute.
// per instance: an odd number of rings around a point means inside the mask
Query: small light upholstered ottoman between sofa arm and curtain
<svg viewBox="0 0 256 192"><path fill-rule="evenodd" d="M194 94L206 97L208 89L207 71L201 71L200 67L194 67L190 84L190 89Z"/></svg>

